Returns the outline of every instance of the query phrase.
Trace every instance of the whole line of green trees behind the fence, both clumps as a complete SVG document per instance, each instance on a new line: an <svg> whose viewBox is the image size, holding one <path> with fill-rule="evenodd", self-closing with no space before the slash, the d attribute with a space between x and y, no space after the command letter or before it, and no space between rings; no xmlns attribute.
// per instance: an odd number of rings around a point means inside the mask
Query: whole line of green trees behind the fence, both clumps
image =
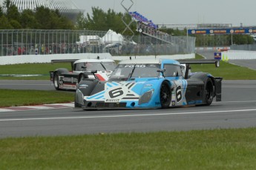
<svg viewBox="0 0 256 170"><path fill-rule="evenodd" d="M125 24L131 21L128 13L116 13L114 10L107 12L92 7L92 15L85 16L79 13L75 23L59 13L59 10L50 10L48 7L36 7L35 10L23 10L21 13L15 4L10 0L5 0L0 4L0 30L34 29L34 30L100 30L109 29L122 33ZM136 24L131 24L133 30ZM131 35L131 33L124 33Z"/></svg>

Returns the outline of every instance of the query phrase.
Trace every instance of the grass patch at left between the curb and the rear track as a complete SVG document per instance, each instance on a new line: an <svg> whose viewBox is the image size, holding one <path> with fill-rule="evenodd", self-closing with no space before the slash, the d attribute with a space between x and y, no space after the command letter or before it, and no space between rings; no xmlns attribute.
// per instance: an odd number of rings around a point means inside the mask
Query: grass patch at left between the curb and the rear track
<svg viewBox="0 0 256 170"><path fill-rule="evenodd" d="M65 91L0 89L0 107L68 103L74 98L73 92Z"/></svg>

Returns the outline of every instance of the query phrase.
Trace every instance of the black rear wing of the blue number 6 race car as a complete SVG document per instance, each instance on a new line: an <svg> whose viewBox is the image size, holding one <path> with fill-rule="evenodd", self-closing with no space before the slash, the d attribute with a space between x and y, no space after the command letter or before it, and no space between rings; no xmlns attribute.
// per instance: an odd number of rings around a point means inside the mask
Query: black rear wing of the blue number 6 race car
<svg viewBox="0 0 256 170"><path fill-rule="evenodd" d="M219 60L178 60L180 64L186 64L185 78L188 78L188 71L191 69L190 64L215 64L215 67L220 67Z"/></svg>

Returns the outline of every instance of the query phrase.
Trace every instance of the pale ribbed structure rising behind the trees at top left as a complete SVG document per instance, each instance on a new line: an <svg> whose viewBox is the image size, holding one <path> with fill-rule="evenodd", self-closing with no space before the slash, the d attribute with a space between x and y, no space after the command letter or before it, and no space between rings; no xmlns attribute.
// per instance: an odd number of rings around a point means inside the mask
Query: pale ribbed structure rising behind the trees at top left
<svg viewBox="0 0 256 170"><path fill-rule="evenodd" d="M35 10L36 7L48 7L50 10L59 10L62 16L70 18L72 21L76 21L76 17L79 13L84 13L85 10L79 9L73 1L70 0L11 0L13 4L18 7L19 12L22 10L30 9ZM4 0L0 0L1 6L3 6ZM5 10L5 9L4 9Z"/></svg>

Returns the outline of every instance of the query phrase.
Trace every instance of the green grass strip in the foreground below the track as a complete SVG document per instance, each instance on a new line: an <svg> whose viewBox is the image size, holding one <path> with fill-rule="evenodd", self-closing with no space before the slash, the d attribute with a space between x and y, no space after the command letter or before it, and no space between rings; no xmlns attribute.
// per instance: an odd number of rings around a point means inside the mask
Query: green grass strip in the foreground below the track
<svg viewBox="0 0 256 170"><path fill-rule="evenodd" d="M255 169L256 129L0 140L0 169Z"/></svg>

